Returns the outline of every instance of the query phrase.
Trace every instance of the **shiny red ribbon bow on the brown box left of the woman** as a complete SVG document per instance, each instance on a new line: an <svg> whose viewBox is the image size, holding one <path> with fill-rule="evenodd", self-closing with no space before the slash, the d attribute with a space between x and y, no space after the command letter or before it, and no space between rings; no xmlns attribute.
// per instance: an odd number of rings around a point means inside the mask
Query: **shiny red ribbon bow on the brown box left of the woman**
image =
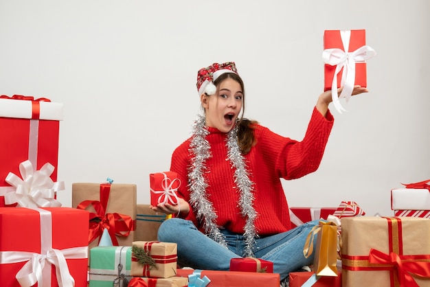
<svg viewBox="0 0 430 287"><path fill-rule="evenodd" d="M112 244L118 246L116 236L128 236L131 231L135 230L133 218L124 214L106 214L106 206L109 200L109 192L111 185L100 185L100 201L84 200L78 205L78 209L87 209L90 205L93 206L95 213L89 216L89 242L93 242L98 237L101 237L104 229L108 229L111 236Z"/></svg>

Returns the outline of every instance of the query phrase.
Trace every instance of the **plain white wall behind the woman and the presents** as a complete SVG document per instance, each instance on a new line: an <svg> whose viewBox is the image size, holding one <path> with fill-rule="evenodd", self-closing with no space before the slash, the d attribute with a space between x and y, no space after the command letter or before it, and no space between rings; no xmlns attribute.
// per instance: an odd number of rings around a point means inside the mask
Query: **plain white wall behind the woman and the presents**
<svg viewBox="0 0 430 287"><path fill-rule="evenodd" d="M354 200L392 215L390 190L430 179L430 2L0 1L0 93L65 105L58 180L137 184L170 168L200 113L196 72L235 61L245 115L302 139L323 89L324 30L365 29L370 93L333 107L317 172L283 181L290 206ZM345 104L343 102L343 104ZM7 140L2 135L1 140Z"/></svg>

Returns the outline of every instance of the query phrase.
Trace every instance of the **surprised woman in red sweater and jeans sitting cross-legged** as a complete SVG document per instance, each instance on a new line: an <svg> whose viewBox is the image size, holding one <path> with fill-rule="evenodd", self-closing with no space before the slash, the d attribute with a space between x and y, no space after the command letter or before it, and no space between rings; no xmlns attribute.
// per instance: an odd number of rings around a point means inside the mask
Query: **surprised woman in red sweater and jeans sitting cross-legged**
<svg viewBox="0 0 430 287"><path fill-rule="evenodd" d="M312 264L303 247L318 220L291 229L280 179L317 170L333 126L331 91L319 95L304 139L295 141L240 116L245 88L234 62L199 70L197 89L205 116L173 152L179 205L152 207L174 216L158 239L176 242L179 264L197 269L227 271L231 258L250 256L273 262L284 279Z"/></svg>

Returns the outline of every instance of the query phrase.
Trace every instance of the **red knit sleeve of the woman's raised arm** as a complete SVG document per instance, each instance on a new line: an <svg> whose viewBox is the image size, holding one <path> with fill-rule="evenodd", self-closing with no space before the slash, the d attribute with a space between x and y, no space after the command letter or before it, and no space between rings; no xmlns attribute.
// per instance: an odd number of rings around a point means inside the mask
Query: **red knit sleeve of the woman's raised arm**
<svg viewBox="0 0 430 287"><path fill-rule="evenodd" d="M299 179L315 172L321 163L333 123L330 111L324 117L314 107L302 141L264 130L260 146L263 146L265 157L273 161L273 172L278 178Z"/></svg>

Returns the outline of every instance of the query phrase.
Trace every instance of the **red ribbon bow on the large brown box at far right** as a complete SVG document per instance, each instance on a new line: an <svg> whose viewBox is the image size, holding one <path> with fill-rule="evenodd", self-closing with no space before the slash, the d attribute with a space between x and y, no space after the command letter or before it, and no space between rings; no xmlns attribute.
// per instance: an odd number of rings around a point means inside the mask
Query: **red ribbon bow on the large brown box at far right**
<svg viewBox="0 0 430 287"><path fill-rule="evenodd" d="M414 260L427 260L427 262ZM430 277L428 260L430 255L398 255L395 252L386 254L376 249L370 249L369 253L370 263L392 266L397 271L400 286L408 287L419 287L410 273L420 277Z"/></svg>

